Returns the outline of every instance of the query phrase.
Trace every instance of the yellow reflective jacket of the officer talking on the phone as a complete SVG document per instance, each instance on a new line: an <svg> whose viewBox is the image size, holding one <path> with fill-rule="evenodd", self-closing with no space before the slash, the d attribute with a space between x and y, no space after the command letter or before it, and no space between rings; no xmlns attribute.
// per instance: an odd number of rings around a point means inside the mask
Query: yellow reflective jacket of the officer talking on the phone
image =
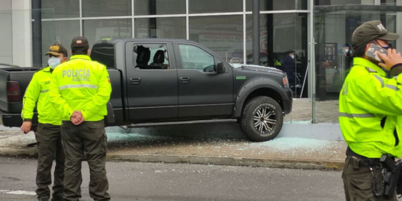
<svg viewBox="0 0 402 201"><path fill-rule="evenodd" d="M356 57L339 95L339 123L352 151L368 158L402 153L401 67L391 78L374 63ZM398 72L399 71L399 72Z"/></svg>

